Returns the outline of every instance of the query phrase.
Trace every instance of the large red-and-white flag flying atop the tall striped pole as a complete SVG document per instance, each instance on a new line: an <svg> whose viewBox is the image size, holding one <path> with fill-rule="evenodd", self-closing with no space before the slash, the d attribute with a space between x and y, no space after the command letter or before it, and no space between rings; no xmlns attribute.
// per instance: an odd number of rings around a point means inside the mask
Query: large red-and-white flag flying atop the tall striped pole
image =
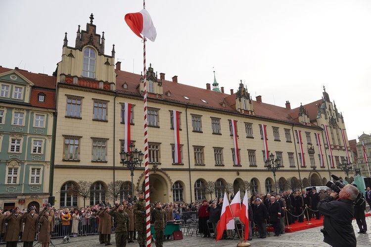
<svg viewBox="0 0 371 247"><path fill-rule="evenodd" d="M142 9L137 13L129 13L125 15L125 21L130 29L139 37L140 34L154 42L156 40L157 32L153 25L152 18L146 9Z"/></svg>

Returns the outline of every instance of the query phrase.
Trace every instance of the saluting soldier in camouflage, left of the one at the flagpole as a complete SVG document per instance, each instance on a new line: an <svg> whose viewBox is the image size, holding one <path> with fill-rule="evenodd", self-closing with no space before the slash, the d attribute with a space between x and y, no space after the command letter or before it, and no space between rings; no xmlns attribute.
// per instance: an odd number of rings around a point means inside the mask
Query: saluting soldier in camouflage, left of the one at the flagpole
<svg viewBox="0 0 371 247"><path fill-rule="evenodd" d="M116 211L117 209L119 210ZM124 206L122 204L120 205L116 204L108 213L109 215L113 216L116 221L116 228L115 228L116 246L126 247L126 241L128 238L128 229L130 226L129 215L124 211ZM102 227L102 231L103 231L103 227Z"/></svg>

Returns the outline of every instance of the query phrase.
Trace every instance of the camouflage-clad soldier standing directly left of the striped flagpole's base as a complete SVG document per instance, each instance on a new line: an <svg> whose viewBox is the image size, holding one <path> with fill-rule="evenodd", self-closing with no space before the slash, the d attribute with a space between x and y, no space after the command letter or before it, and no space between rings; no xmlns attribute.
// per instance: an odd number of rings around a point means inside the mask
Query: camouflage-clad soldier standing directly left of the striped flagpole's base
<svg viewBox="0 0 371 247"><path fill-rule="evenodd" d="M146 214L145 214L145 199L144 192L138 193L138 201L134 205L134 214L136 217L135 223L138 230L138 244L139 247L147 246L147 234L146 234Z"/></svg>

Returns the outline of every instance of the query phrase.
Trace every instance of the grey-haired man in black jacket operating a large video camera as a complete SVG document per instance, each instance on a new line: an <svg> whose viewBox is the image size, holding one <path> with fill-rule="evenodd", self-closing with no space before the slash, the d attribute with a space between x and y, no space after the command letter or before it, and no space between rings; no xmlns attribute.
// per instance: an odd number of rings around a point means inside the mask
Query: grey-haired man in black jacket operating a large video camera
<svg viewBox="0 0 371 247"><path fill-rule="evenodd" d="M357 240L352 225L354 208L353 201L357 198L358 189L346 185L339 194L332 192L318 203L320 213L325 215L324 242L332 247L356 247ZM336 199L336 200L335 200Z"/></svg>

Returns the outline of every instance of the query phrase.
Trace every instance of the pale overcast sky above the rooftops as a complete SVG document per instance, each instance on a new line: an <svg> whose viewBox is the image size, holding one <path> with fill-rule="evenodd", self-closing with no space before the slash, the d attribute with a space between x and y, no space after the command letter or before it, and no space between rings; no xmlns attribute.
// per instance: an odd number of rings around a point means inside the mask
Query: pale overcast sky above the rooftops
<svg viewBox="0 0 371 247"><path fill-rule="evenodd" d="M0 66L52 75L65 32L75 45L78 25L93 13L105 54L115 44L121 70L140 74L143 45L126 25L141 0L0 0ZM225 92L240 81L255 100L291 108L322 98L342 113L348 139L370 134L371 1L147 0L157 30L146 42L147 67L171 81Z"/></svg>

